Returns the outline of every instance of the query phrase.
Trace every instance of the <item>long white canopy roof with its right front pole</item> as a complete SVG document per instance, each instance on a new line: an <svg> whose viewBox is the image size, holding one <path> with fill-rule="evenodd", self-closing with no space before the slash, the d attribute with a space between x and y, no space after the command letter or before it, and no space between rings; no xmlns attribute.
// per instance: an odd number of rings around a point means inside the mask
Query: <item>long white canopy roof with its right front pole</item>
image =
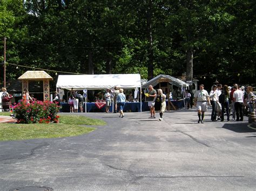
<svg viewBox="0 0 256 191"><path fill-rule="evenodd" d="M142 88L140 74L88 74L88 75L59 75L56 87L67 90L101 90L113 88ZM140 112L142 102L140 94Z"/></svg>

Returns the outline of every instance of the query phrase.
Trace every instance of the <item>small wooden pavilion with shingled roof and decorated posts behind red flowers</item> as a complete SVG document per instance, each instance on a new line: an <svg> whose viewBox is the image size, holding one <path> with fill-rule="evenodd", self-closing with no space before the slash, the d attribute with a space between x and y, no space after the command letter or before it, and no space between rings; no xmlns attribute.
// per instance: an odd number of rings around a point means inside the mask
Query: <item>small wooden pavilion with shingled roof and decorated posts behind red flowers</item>
<svg viewBox="0 0 256 191"><path fill-rule="evenodd" d="M44 101L50 100L49 80L53 80L53 78L45 71L26 71L18 79L22 80L22 93L23 93L24 88L26 88L26 90L29 90L29 81L42 80L43 81Z"/></svg>

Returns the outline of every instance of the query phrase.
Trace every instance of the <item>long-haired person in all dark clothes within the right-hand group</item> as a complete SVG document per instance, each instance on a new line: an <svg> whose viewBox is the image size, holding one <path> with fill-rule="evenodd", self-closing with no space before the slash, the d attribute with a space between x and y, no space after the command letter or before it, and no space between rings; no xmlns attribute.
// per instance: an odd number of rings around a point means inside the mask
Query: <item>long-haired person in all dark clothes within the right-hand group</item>
<svg viewBox="0 0 256 191"><path fill-rule="evenodd" d="M223 98L221 98L223 97ZM230 121L230 102L229 102L229 98L230 98L230 91L228 90L228 86L224 85L223 86L223 91L221 92L220 96L219 96L219 100L223 99L223 101L221 102L221 108L222 108L222 112L221 112L221 121L224 121L224 113L225 113L225 109L226 109L226 114L227 114L227 121Z"/></svg>

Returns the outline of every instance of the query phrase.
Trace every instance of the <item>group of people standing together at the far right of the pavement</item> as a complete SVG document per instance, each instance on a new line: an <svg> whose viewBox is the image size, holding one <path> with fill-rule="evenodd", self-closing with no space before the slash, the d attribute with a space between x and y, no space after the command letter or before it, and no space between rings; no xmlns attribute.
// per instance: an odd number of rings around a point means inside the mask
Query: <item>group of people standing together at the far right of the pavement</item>
<svg viewBox="0 0 256 191"><path fill-rule="evenodd" d="M227 121L230 121L232 111L232 120L243 121L244 115L253 112L253 94L252 86L240 86L234 84L232 87L221 84L212 86L210 94L204 90L204 85L199 86L200 90L194 95L194 103L198 111L198 123L204 123L204 114L207 111L207 105L212 105L212 121L224 121L224 115Z"/></svg>

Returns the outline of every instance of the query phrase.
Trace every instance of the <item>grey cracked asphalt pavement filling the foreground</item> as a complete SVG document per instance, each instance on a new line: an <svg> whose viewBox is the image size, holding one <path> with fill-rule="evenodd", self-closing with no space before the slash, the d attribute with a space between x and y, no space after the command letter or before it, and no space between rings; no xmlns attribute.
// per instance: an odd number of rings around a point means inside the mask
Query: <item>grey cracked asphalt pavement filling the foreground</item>
<svg viewBox="0 0 256 191"><path fill-rule="evenodd" d="M69 113L68 113L69 114ZM79 137L0 142L0 190L255 190L256 130L197 124L196 111L82 113L106 126ZM247 120L248 118L245 118Z"/></svg>

